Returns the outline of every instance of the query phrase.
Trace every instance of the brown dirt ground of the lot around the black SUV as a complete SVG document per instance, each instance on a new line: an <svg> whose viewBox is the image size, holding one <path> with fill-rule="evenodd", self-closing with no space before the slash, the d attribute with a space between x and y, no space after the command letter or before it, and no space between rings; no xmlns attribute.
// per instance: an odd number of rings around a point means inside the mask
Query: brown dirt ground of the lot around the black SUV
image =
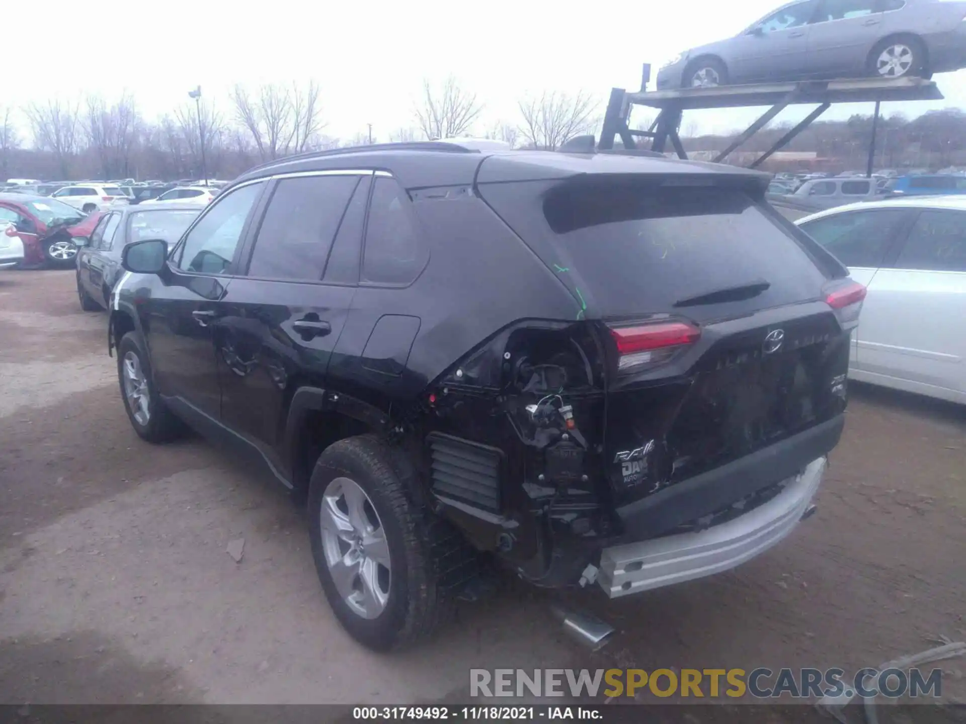
<svg viewBox="0 0 966 724"><path fill-rule="evenodd" d="M0 272L0 703L459 702L470 667L853 671L966 639L966 409L854 386L817 503L735 571L582 596L620 629L597 654L514 583L425 646L371 654L280 488L198 438L137 438L71 271Z"/></svg>

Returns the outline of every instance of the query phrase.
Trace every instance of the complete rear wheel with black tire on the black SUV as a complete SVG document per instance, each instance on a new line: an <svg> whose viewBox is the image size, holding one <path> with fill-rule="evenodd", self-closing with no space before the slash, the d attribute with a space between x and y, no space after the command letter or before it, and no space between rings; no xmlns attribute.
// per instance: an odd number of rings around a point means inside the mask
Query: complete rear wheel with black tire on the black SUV
<svg viewBox="0 0 966 724"><path fill-rule="evenodd" d="M400 455L375 435L339 440L309 484L312 556L328 603L356 641L381 652L427 637L454 575L469 569L453 565L467 560L459 533L412 500Z"/></svg>

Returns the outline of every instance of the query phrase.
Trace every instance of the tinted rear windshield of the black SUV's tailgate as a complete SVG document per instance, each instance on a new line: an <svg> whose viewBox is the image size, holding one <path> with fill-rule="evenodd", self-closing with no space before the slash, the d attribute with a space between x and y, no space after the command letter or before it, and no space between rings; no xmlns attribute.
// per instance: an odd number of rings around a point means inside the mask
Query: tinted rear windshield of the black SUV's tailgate
<svg viewBox="0 0 966 724"><path fill-rule="evenodd" d="M581 290L588 308L604 315L669 312L697 296L768 285L753 298L687 305L687 314L707 319L723 309L741 313L813 299L825 281L795 232L740 190L571 183L534 209L540 224L520 215L526 196L513 187L525 185L493 184L483 195L497 212L507 209L507 223Z"/></svg>

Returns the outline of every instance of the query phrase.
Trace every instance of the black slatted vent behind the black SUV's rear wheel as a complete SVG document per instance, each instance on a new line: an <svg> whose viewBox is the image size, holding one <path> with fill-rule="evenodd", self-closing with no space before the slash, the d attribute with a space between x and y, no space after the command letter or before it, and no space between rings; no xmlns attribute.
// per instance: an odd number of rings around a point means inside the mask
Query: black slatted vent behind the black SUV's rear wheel
<svg viewBox="0 0 966 724"><path fill-rule="evenodd" d="M433 491L499 513L500 452L440 432L431 433L427 440L433 460Z"/></svg>

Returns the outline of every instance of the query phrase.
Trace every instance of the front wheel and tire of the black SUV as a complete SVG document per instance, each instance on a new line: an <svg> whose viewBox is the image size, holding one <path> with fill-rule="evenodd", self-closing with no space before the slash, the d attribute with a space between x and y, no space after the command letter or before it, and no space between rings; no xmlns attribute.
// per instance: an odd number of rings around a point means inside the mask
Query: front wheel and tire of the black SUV
<svg viewBox="0 0 966 724"><path fill-rule="evenodd" d="M128 332L118 345L118 383L134 432L148 442L168 442L185 427L157 394L151 362L141 335Z"/></svg>

